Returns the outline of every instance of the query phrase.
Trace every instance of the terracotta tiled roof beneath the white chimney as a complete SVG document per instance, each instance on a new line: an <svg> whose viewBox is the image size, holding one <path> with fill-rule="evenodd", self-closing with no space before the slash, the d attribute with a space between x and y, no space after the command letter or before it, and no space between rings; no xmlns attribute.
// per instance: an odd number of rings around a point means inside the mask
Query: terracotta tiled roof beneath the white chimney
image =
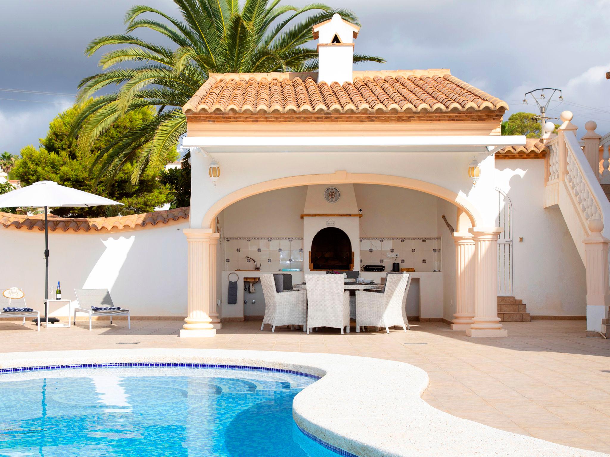
<svg viewBox="0 0 610 457"><path fill-rule="evenodd" d="M317 73L226 73L209 79L182 107L221 113L420 113L508 109L506 102L448 69L354 71L353 82L317 82Z"/></svg>

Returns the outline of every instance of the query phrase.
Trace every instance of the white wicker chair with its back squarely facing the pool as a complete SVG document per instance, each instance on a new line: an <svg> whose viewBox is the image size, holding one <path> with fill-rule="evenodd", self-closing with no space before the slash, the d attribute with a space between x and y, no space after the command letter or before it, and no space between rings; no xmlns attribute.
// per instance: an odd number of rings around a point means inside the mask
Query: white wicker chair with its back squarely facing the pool
<svg viewBox="0 0 610 457"><path fill-rule="evenodd" d="M343 275L305 275L307 333L315 327L340 328L350 333L350 292Z"/></svg>

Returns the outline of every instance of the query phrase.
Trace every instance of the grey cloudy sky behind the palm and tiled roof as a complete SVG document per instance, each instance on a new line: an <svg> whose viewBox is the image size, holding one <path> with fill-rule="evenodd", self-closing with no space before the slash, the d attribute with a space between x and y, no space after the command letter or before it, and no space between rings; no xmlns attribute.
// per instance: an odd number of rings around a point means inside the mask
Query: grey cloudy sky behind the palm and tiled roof
<svg viewBox="0 0 610 457"><path fill-rule="evenodd" d="M38 145L49 121L74 101L79 80L96 73L99 55L85 57L86 44L99 35L123 32L123 15L135 3L174 12L170 0L2 1L0 152L16 154L27 144ZM357 69L450 68L460 79L507 101L508 115L537 112L531 99L529 106L522 104L525 92L560 88L564 102L551 101L549 115L570 110L576 125L594 119L598 133L610 131L610 80L605 79L610 0L326 3L359 16L356 52L387 60Z"/></svg>

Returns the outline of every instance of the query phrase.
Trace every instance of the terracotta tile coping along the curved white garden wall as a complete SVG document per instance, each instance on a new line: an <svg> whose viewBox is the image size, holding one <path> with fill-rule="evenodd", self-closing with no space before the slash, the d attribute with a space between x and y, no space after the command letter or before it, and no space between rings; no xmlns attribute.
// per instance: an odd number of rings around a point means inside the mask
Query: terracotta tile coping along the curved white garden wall
<svg viewBox="0 0 610 457"><path fill-rule="evenodd" d="M94 230L108 230L116 232L125 228L145 227L146 225L167 224L170 221L178 221L178 219L188 219L189 208L176 208L175 210L153 211L152 213L131 214L130 216L116 216L113 218L57 218L49 216L49 232L89 232ZM40 231L45 230L45 221L43 216L37 214L35 216L24 216L23 214L0 213L0 224L4 227L26 228L34 230L37 228Z"/></svg>

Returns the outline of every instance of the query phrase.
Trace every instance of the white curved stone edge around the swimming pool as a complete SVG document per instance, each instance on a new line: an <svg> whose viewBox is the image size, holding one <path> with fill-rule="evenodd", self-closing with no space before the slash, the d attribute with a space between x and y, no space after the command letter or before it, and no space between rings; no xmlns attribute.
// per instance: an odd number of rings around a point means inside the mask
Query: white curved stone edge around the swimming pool
<svg viewBox="0 0 610 457"><path fill-rule="evenodd" d="M0 354L0 369L96 363L204 363L320 377L293 400L301 430L346 454L605 456L443 413L421 398L428 375L397 361L336 354L222 349L113 349Z"/></svg>

